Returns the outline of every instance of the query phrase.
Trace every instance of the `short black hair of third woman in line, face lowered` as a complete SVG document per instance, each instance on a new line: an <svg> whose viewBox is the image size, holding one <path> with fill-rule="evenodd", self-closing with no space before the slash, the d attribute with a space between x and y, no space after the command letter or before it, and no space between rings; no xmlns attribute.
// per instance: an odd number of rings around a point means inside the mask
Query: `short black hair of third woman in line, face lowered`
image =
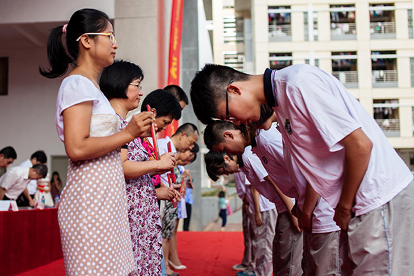
<svg viewBox="0 0 414 276"><path fill-rule="evenodd" d="M147 104L157 110L157 117L172 115L172 119L181 118L181 106L178 100L166 90L157 89L150 92L142 101L141 112L147 110Z"/></svg>

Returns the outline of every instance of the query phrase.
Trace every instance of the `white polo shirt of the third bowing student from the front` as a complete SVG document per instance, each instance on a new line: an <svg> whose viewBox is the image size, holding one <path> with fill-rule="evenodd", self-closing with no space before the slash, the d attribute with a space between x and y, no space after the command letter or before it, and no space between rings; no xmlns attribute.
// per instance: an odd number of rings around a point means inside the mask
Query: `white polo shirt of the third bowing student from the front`
<svg viewBox="0 0 414 276"><path fill-rule="evenodd" d="M255 206L253 202L253 197L250 193L250 184L253 185L253 188L259 192L259 206L260 212L273 210L275 204L273 202L279 199L279 196L273 189L272 184L268 183L264 177L268 176L268 173L263 168L262 163L259 158L251 151L251 147L248 146L245 148L242 158L238 157L239 168L246 174L248 182L246 182L246 195L249 201L250 206ZM273 193L272 193L273 191ZM279 199L279 201L281 201ZM252 210L254 208L252 207ZM254 213L254 212L253 212Z"/></svg>

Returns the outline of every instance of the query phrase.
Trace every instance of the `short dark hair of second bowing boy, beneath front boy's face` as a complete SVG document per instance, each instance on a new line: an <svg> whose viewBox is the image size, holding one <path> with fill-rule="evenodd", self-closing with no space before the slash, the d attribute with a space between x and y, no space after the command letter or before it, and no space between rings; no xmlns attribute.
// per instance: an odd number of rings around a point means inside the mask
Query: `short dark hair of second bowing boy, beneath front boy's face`
<svg viewBox="0 0 414 276"><path fill-rule="evenodd" d="M236 126L230 121L215 120L204 129L204 144L206 144L206 147L211 150L213 146L223 143L225 141L223 132L226 130L240 130L243 138L248 139L248 130L244 124Z"/></svg>

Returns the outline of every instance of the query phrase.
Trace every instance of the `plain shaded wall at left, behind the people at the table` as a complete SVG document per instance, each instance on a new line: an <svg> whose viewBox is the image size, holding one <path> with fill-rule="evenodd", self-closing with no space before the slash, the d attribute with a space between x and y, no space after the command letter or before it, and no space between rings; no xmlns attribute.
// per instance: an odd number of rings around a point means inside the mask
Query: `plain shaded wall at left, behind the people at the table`
<svg viewBox="0 0 414 276"><path fill-rule="evenodd" d="M39 64L46 64L46 48L2 49L9 58L8 95L0 96L0 148L17 150L14 165L36 150L66 155L55 128L55 106L61 79L46 79Z"/></svg>

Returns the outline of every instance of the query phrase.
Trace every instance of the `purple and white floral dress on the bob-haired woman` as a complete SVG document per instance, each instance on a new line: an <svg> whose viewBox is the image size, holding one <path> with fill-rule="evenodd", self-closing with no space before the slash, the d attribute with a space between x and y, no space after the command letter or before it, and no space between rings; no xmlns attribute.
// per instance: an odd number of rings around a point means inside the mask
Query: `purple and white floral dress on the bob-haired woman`
<svg viewBox="0 0 414 276"><path fill-rule="evenodd" d="M119 117L121 129L128 124ZM149 161L139 138L128 143L129 161ZM150 175L126 179L128 220L136 270L130 275L161 275L162 239L157 194Z"/></svg>

